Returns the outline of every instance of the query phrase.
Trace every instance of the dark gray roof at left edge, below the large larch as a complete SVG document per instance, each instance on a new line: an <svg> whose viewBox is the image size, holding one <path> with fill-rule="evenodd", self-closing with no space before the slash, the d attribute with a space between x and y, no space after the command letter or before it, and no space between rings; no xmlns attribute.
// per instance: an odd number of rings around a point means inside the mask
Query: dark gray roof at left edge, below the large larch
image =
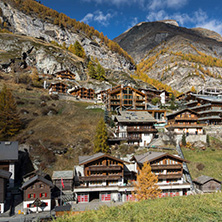
<svg viewBox="0 0 222 222"><path fill-rule="evenodd" d="M0 142L0 161L18 160L18 142Z"/></svg>

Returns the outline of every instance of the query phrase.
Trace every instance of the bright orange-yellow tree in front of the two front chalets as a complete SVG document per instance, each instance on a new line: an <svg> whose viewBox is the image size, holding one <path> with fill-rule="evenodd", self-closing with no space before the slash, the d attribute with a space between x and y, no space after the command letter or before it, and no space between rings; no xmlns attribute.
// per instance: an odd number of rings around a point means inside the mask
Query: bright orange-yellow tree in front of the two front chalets
<svg viewBox="0 0 222 222"><path fill-rule="evenodd" d="M149 163L145 163L137 176L137 182L135 183L135 189L133 196L138 201L155 199L161 193L159 186L157 185L158 177L152 173Z"/></svg>

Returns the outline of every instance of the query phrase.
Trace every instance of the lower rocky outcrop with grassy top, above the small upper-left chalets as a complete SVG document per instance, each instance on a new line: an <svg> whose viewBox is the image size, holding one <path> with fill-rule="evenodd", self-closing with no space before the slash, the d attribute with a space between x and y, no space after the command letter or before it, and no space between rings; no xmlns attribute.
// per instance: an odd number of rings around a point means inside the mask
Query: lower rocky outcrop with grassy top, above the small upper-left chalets
<svg viewBox="0 0 222 222"><path fill-rule="evenodd" d="M0 33L0 68L5 72L24 71L37 67L39 73L55 73L69 69L77 80L86 80L86 64L73 53L45 41Z"/></svg>

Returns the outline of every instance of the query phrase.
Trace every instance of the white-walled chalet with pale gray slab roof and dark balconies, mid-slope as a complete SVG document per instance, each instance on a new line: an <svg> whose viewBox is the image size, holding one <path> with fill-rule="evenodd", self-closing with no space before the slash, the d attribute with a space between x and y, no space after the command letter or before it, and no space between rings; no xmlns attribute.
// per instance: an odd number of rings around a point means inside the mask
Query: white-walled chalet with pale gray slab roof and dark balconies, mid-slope
<svg viewBox="0 0 222 222"><path fill-rule="evenodd" d="M127 141L128 144L147 146L158 132L154 127L157 122L147 111L119 111L114 116L116 137L109 141Z"/></svg>

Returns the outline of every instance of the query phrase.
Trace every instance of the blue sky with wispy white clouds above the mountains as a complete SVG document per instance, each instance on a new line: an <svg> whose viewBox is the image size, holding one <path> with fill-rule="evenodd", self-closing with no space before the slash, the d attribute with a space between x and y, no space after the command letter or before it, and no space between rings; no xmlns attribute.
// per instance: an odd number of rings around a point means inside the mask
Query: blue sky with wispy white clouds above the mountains
<svg viewBox="0 0 222 222"><path fill-rule="evenodd" d="M180 26L222 34L221 0L41 0L113 39L144 21L175 19Z"/></svg>

